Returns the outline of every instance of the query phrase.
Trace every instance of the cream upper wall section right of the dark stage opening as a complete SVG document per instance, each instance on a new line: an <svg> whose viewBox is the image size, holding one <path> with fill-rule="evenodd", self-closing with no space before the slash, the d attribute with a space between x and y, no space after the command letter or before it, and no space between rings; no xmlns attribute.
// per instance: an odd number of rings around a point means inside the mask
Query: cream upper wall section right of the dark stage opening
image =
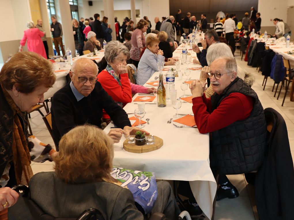
<svg viewBox="0 0 294 220"><path fill-rule="evenodd" d="M273 21L270 21L274 18L280 18L287 22L287 8L288 2L285 0L259 0L258 11L261 17L261 27L274 26Z"/></svg>

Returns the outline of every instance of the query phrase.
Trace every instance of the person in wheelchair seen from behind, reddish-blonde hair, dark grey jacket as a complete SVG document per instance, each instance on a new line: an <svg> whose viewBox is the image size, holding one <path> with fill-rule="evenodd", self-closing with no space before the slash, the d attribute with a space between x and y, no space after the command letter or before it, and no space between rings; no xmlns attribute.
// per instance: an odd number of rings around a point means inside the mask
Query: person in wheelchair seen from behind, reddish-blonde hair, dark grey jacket
<svg viewBox="0 0 294 220"><path fill-rule="evenodd" d="M59 142L55 171L32 177L31 199L44 213L59 218L75 218L84 210L95 208L104 219L143 220L131 191L120 187L110 175L113 156L113 141L101 129L93 125L73 128ZM150 214L161 212L174 219L177 205L171 186L159 181L157 191Z"/></svg>

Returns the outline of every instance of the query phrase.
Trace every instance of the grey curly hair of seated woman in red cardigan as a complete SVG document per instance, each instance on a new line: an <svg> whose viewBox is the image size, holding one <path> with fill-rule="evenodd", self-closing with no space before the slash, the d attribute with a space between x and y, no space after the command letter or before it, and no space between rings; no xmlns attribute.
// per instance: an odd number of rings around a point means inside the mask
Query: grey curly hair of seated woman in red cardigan
<svg viewBox="0 0 294 220"><path fill-rule="evenodd" d="M127 59L130 59L131 55L128 48L123 45L118 40L111 40L107 43L104 49L104 57L107 63L112 63L113 60L120 54L123 53L127 56Z"/></svg>

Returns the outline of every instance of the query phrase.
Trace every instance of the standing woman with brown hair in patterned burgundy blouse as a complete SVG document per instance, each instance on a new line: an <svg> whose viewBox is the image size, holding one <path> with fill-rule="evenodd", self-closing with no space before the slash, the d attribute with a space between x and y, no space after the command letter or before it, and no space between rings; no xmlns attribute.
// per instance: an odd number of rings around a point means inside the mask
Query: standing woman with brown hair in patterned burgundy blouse
<svg viewBox="0 0 294 220"><path fill-rule="evenodd" d="M143 50L143 47L145 47L146 43L143 33L147 31L147 28L148 22L141 19L137 23L137 29L132 34L132 48L130 50L131 60L137 68L140 61L141 51Z"/></svg>

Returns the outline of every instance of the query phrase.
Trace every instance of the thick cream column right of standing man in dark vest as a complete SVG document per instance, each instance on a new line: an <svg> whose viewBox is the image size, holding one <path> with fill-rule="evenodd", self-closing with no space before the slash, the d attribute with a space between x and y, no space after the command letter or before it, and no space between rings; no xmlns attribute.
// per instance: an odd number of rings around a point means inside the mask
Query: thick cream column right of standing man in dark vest
<svg viewBox="0 0 294 220"><path fill-rule="evenodd" d="M74 57L76 54L76 49L74 45L74 34L72 28L73 26L71 23L71 9L69 7L69 1L55 0L55 8L57 16L60 18L60 20L57 21L62 25L64 50L66 50L66 48L69 48L71 50L71 55Z"/></svg>

